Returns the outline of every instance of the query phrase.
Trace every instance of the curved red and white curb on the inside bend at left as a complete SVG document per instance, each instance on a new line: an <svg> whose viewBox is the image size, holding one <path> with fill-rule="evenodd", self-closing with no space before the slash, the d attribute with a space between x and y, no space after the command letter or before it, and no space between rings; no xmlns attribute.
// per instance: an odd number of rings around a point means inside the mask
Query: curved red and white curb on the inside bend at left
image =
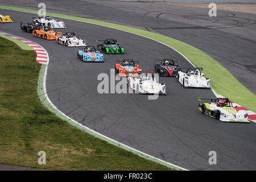
<svg viewBox="0 0 256 182"><path fill-rule="evenodd" d="M5 35L5 36L10 36L10 38L14 38L17 40L20 40L21 42L27 44L28 46L32 47L32 49L34 49L34 51L36 52L36 61L38 61L38 63L41 64L48 64L49 63L49 56L48 53L46 51L46 49L44 49L42 46L40 46L37 43L32 42L31 40L28 39L24 39L21 38L19 36L13 35L13 34L8 34L6 32L1 32L0 34Z"/></svg>

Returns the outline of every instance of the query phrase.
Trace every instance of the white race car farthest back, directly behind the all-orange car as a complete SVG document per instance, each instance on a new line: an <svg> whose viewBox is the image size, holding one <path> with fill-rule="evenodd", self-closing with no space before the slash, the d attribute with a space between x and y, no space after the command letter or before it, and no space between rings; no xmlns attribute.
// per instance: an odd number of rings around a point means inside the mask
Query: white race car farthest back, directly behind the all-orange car
<svg viewBox="0 0 256 182"><path fill-rule="evenodd" d="M34 23L41 23L49 28L66 28L64 22L57 22L52 16L39 16L38 18L32 16L32 20Z"/></svg>

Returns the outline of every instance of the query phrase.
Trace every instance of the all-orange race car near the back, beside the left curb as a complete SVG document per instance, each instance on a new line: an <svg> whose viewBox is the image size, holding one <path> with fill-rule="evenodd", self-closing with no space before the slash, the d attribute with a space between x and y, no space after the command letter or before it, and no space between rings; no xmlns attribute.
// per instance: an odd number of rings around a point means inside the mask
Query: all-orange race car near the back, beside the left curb
<svg viewBox="0 0 256 182"><path fill-rule="evenodd" d="M52 28L43 27L40 28L40 30L34 30L32 31L32 34L34 36L37 36L39 38L47 39L47 40L56 40L58 36L61 36L61 32L55 32Z"/></svg>

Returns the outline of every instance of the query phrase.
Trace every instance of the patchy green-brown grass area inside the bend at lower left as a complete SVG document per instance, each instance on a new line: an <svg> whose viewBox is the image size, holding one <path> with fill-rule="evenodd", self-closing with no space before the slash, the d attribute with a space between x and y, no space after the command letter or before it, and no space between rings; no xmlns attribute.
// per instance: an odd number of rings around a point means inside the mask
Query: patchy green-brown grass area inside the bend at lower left
<svg viewBox="0 0 256 182"><path fill-rule="evenodd" d="M0 163L55 170L170 170L69 125L38 98L35 52L0 38ZM46 151L46 165L38 152Z"/></svg>

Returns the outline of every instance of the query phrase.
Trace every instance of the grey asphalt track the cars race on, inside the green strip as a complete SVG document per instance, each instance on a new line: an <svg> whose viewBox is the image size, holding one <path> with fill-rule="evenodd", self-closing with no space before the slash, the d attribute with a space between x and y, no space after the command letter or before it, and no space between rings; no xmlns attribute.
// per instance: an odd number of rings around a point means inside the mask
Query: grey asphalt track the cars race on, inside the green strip
<svg viewBox="0 0 256 182"><path fill-rule="evenodd" d="M151 71L154 59L171 57L180 66L189 63L163 44L111 28L63 19L64 31L76 32L86 44L96 39L116 38L126 47L126 55L105 55L105 63L82 63L76 48L55 41L35 38L22 32L20 21L31 14L1 10L16 23L1 24L0 31L30 39L49 53L47 93L58 109L69 117L159 159L192 170L255 170L255 124L223 123L197 109L199 96L214 97L211 90L184 89L175 78L160 78L167 85L167 96L148 100L139 94L98 94L99 73L109 75L114 59L139 60L143 71ZM217 152L217 165L209 165L209 151Z"/></svg>

